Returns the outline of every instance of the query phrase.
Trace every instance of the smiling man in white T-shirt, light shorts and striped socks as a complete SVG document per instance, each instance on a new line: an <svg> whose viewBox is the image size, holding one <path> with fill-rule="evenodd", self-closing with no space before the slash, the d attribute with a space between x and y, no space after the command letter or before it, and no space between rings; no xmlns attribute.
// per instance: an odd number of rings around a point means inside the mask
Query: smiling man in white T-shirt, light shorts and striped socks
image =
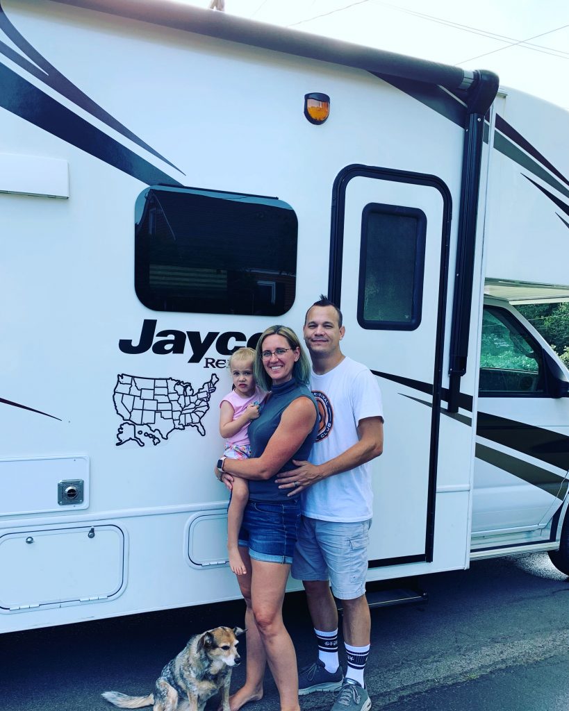
<svg viewBox="0 0 569 711"><path fill-rule="evenodd" d="M304 341L312 358L311 386L321 425L311 461L295 462L277 479L289 496L302 492L302 523L292 576L307 593L319 659L299 673L299 694L340 693L332 711L367 711L363 682L370 648L371 616L365 595L372 491L368 463L383 451L381 392L370 370L346 358L341 311L321 296L307 311ZM331 585L331 589L330 589ZM344 610L346 678L338 657L338 612Z"/></svg>

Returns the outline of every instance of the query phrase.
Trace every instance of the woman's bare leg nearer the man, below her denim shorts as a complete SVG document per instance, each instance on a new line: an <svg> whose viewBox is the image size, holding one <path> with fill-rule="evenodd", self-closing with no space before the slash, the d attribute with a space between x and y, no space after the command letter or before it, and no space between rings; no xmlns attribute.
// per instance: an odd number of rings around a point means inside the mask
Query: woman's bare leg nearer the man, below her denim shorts
<svg viewBox="0 0 569 711"><path fill-rule="evenodd" d="M255 627L279 690L281 710L299 711L297 655L282 621L282 601L290 566L255 559L250 566Z"/></svg>

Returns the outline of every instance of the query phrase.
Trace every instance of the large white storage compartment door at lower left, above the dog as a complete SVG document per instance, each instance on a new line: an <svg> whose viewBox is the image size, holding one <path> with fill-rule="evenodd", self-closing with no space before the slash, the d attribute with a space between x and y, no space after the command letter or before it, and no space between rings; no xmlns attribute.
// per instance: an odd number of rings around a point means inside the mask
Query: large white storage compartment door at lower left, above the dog
<svg viewBox="0 0 569 711"><path fill-rule="evenodd" d="M126 584L124 534L114 525L5 533L0 570L1 611L115 597Z"/></svg>

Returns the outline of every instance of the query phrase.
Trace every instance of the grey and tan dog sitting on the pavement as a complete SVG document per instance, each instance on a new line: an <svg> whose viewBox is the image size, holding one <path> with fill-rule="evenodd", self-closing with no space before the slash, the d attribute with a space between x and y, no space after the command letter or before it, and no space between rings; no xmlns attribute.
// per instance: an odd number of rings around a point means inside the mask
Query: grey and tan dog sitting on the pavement
<svg viewBox="0 0 569 711"><path fill-rule="evenodd" d="M220 708L229 711L231 671L241 659L237 638L244 631L240 627L216 627L190 637L156 679L154 693L128 696L105 691L102 697L124 709L152 706L153 711L203 711L208 699L220 692Z"/></svg>

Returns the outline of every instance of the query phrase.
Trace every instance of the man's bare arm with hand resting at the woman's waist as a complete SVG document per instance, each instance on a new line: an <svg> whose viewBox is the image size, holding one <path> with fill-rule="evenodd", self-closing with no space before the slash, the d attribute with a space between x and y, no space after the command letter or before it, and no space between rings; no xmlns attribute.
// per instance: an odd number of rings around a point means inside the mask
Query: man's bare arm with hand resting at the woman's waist
<svg viewBox="0 0 569 711"><path fill-rule="evenodd" d="M366 461L376 459L383 452L383 418L365 417L358 422L359 441L352 447L346 449L334 459L325 461L323 464L310 464L309 461L294 461L298 464L298 469L287 471L286 475L280 476L275 481L279 488L288 488L288 496L297 494L308 486L326 479L334 474L341 474L343 471L354 469Z"/></svg>

